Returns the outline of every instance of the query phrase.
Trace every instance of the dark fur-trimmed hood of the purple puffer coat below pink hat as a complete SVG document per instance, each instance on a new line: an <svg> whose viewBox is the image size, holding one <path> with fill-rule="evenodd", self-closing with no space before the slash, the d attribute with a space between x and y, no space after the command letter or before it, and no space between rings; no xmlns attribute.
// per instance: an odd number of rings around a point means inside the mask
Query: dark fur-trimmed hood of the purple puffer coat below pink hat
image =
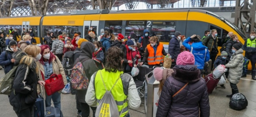
<svg viewBox="0 0 256 117"><path fill-rule="evenodd" d="M173 78L181 82L194 83L201 79L201 72L194 65L176 65L173 70Z"/></svg>

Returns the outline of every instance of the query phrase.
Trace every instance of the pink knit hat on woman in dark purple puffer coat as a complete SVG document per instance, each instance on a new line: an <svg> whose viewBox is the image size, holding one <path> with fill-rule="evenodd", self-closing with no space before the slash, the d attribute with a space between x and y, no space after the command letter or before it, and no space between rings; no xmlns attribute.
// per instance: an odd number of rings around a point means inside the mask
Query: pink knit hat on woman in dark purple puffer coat
<svg viewBox="0 0 256 117"><path fill-rule="evenodd" d="M177 65L194 65L195 57L192 53L188 51L183 51L178 55L176 64Z"/></svg>

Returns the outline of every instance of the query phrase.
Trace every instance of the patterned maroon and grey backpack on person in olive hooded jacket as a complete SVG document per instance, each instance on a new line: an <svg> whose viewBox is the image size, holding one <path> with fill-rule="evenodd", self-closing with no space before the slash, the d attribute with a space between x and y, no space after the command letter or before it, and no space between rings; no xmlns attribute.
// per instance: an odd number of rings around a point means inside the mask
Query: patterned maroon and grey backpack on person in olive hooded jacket
<svg viewBox="0 0 256 117"><path fill-rule="evenodd" d="M79 60L79 58L77 58ZM70 75L70 82L72 83L72 88L75 90L85 90L88 88L89 79L86 76L84 71L83 62L88 60L89 58L84 58L79 60L77 64L72 68L71 75Z"/></svg>

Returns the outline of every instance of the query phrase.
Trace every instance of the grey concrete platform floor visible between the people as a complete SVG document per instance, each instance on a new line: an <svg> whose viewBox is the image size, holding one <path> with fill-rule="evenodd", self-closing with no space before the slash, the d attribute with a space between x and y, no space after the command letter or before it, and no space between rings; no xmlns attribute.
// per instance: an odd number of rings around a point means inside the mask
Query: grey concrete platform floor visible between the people
<svg viewBox="0 0 256 117"><path fill-rule="evenodd" d="M4 71L0 70L0 78L4 76ZM247 78L242 78L238 83L239 92L245 95L248 100L248 106L244 110L236 111L229 108L229 98L227 94L231 94L229 83L226 83L226 89L220 86L213 90L209 95L211 106L211 117L256 117L256 81L251 80L251 75ZM144 102L144 99L141 99ZM64 117L77 117L77 110L75 104L75 95L61 94L61 108ZM9 103L8 96L0 95L0 117L17 117ZM141 104L140 108L129 110L131 117L145 117L144 105ZM92 112L90 113L92 117Z"/></svg>

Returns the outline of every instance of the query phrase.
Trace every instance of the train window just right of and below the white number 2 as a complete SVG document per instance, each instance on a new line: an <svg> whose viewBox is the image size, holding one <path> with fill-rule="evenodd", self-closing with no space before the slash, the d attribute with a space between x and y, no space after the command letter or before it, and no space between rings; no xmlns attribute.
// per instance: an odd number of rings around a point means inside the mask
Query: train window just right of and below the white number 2
<svg viewBox="0 0 256 117"><path fill-rule="evenodd" d="M174 36L175 26L152 25L151 35L156 35L159 41L169 42Z"/></svg>

